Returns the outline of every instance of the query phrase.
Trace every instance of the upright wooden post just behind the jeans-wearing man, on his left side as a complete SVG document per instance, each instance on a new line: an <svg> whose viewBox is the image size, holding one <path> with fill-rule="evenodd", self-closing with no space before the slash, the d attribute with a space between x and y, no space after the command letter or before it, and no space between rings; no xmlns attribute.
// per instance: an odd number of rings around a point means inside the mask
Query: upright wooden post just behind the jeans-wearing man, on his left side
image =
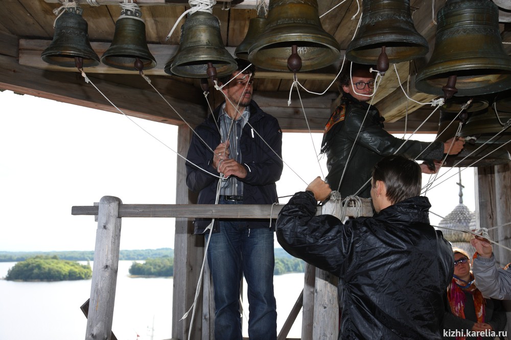
<svg viewBox="0 0 511 340"><path fill-rule="evenodd" d="M187 125L179 126L177 149L178 153L184 157L188 154L192 134L193 132ZM196 203L196 198L186 185L186 168L184 164L185 160L177 156L176 203L194 204ZM190 323L192 322L192 312L190 311L186 319L181 320L181 318L194 303L204 254L204 237L193 235L192 220L176 218L174 242L174 258L179 260L174 261L172 337L181 340L201 339L202 295L199 296L197 301L190 338L188 335Z"/></svg>

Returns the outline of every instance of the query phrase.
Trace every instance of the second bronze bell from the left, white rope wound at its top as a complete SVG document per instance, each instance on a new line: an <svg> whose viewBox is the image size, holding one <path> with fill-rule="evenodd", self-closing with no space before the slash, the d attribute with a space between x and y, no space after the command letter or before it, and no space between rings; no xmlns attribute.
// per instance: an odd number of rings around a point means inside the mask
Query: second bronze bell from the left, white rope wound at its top
<svg viewBox="0 0 511 340"><path fill-rule="evenodd" d="M138 71L156 66L156 59L147 47L146 24L141 16L142 12L138 9L121 11L121 16L115 22L112 43L101 57L103 64Z"/></svg>

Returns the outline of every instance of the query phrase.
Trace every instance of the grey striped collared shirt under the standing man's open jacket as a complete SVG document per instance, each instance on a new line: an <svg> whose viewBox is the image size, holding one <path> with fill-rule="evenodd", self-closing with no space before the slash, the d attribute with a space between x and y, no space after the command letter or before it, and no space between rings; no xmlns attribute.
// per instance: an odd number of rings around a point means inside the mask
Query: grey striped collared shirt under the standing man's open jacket
<svg viewBox="0 0 511 340"><path fill-rule="evenodd" d="M225 103L220 110L220 136L222 142L229 140L229 158L235 159L241 164L241 133L248 118L250 117L249 107L245 107L241 117L234 121L225 112ZM229 133L230 131L230 133ZM222 182L220 188L220 195L225 196L243 196L243 182L239 181L236 177L230 176L227 180Z"/></svg>

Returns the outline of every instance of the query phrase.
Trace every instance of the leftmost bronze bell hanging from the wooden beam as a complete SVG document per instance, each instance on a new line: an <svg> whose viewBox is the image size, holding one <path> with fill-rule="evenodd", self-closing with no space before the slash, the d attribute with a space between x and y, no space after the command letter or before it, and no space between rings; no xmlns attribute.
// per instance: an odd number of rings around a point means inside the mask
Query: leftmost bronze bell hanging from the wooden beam
<svg viewBox="0 0 511 340"><path fill-rule="evenodd" d="M92 50L87 33L87 21L80 7L68 7L55 22L53 41L41 53L41 59L63 67L90 67L99 65L99 57Z"/></svg>

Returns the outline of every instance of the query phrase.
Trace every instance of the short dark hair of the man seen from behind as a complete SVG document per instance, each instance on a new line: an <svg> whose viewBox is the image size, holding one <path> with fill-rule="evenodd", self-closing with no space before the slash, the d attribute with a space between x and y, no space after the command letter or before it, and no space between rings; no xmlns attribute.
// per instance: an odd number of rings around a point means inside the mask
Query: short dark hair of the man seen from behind
<svg viewBox="0 0 511 340"><path fill-rule="evenodd" d="M376 181L385 183L387 199L396 204L421 195L421 166L404 155L386 156L375 165L373 185Z"/></svg>

